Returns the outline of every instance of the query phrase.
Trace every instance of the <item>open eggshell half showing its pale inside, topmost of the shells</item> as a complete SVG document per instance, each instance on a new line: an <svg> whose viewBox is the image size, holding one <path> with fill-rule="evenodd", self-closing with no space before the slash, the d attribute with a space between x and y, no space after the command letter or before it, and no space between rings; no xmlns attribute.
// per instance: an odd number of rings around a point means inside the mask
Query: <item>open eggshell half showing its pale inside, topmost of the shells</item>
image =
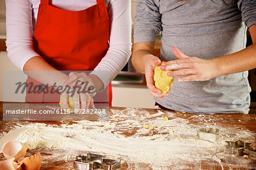
<svg viewBox="0 0 256 170"><path fill-rule="evenodd" d="M28 141L22 143L15 140L9 140L2 146L3 156L5 156L6 159L14 157L14 161L17 161L20 157L26 155L27 147Z"/></svg>

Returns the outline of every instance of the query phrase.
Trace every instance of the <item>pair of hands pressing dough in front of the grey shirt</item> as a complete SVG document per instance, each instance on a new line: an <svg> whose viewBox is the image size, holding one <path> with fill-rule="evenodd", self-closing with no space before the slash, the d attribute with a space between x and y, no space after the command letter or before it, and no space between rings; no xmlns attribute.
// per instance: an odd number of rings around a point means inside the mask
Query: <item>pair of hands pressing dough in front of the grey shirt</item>
<svg viewBox="0 0 256 170"><path fill-rule="evenodd" d="M167 74L168 76L184 76L177 78L177 81L179 82L205 81L217 77L216 64L213 60L203 60L198 57L186 56L184 53L179 51L177 47L173 47L172 51L178 59L161 64L162 71L172 70L172 72ZM166 94L161 94L161 91L154 85L154 69L156 66L160 65L160 63L161 61L158 57L149 55L146 59L144 68L147 88L150 91L151 96L163 98L168 96L171 88Z"/></svg>

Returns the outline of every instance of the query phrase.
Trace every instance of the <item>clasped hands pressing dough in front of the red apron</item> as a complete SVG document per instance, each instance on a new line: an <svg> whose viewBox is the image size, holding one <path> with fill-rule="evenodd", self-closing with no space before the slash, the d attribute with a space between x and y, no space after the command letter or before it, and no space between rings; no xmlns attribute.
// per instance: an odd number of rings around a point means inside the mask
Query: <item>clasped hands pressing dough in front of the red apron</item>
<svg viewBox="0 0 256 170"><path fill-rule="evenodd" d="M84 109L89 109L89 107L91 109L94 109L93 96L95 96L96 90L92 82L92 79L89 76L87 76L86 73L84 72L69 73L69 78L64 82L63 86L70 86L71 89L75 88L75 93L73 95L75 109L84 110ZM85 91L88 90L89 87L94 87L95 92L92 94L89 94L88 92L84 93ZM84 92L81 93L81 91L84 91ZM65 109L68 109L68 97L69 97L68 93L66 92L62 93L63 106Z"/></svg>

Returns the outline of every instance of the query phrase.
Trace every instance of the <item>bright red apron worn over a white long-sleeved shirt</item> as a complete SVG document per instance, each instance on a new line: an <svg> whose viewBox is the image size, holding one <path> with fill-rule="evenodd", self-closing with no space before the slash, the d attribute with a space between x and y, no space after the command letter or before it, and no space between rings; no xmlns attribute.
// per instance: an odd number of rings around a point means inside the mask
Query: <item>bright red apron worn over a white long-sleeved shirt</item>
<svg viewBox="0 0 256 170"><path fill-rule="evenodd" d="M59 71L93 71L109 48L109 15L104 0L97 0L96 5L81 11L58 9L49 5L49 0L41 0L33 45ZM41 84L30 77L27 82ZM111 106L111 84L106 89L105 94L96 96L109 101ZM102 99L104 96L108 99ZM59 99L60 94L26 95L26 102L59 102Z"/></svg>

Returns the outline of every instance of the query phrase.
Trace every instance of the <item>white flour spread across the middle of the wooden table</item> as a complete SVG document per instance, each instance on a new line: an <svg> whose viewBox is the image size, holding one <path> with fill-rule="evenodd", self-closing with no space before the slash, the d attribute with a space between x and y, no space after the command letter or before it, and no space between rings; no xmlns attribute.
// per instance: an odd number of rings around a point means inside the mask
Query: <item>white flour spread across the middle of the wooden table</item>
<svg viewBox="0 0 256 170"><path fill-rule="evenodd" d="M60 148L67 150L67 153L74 150L97 152L114 159L121 158L128 165L148 163L153 169L179 161L182 169L184 160L195 162L211 159L221 165L221 159L226 155L223 154L223 146L228 139L226 136L234 133L225 129L225 134L220 134L218 142L210 143L196 139L196 129L200 126L189 125L187 119L177 118L168 111L150 115L141 109L128 108L112 110L112 113L113 119L102 122L26 125L28 129L17 140L27 139L29 149ZM163 116L168 117L168 121L164 121ZM152 125L153 128L144 128L143 125ZM250 139L252 133L241 130L240 135ZM246 159L241 157L240 161L246 166Z"/></svg>

